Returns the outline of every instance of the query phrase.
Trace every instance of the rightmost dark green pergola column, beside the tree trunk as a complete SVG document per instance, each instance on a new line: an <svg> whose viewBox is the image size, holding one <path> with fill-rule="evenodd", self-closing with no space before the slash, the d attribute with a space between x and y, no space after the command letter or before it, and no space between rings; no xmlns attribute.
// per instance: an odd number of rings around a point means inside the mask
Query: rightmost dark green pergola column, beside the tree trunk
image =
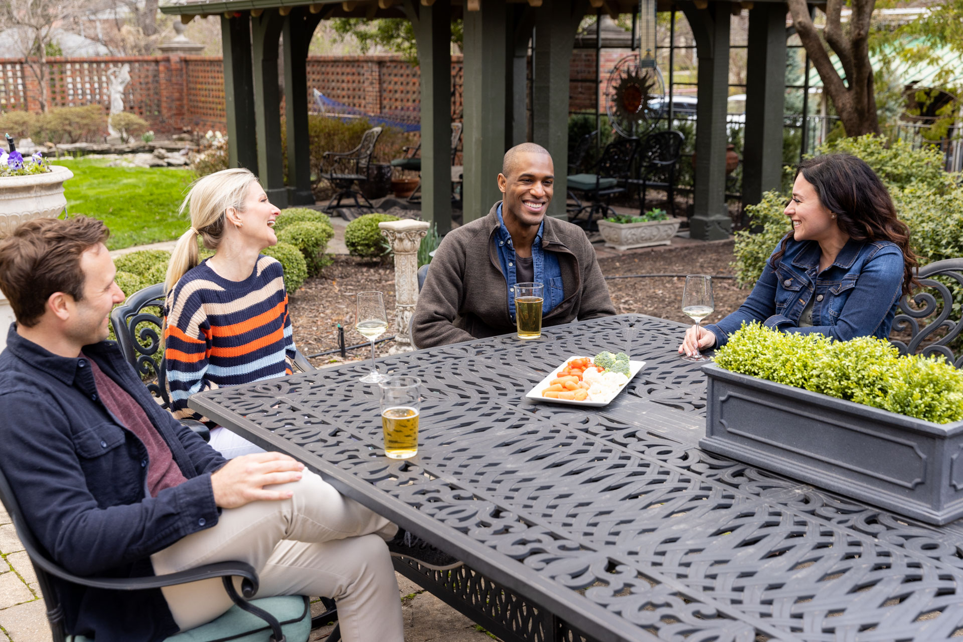
<svg viewBox="0 0 963 642"><path fill-rule="evenodd" d="M786 85L786 7L756 3L749 10L742 204L754 205L782 180Z"/></svg>

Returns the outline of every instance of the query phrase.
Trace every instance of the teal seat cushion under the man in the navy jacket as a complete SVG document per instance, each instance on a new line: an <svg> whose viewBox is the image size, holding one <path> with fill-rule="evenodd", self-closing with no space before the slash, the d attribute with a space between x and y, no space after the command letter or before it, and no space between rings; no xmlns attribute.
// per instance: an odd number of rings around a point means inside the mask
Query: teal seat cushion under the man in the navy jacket
<svg viewBox="0 0 963 642"><path fill-rule="evenodd" d="M281 623L288 642L305 642L311 633L311 608L302 596L288 595L251 600ZM268 642L271 628L240 606L231 606L217 620L169 637L165 642ZM93 642L83 635L67 635L66 642Z"/></svg>

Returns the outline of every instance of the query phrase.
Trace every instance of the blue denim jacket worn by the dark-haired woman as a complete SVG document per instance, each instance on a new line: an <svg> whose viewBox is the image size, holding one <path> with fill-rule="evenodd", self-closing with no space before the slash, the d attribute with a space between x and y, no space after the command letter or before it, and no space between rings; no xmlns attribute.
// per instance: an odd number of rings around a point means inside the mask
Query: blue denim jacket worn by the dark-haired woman
<svg viewBox="0 0 963 642"><path fill-rule="evenodd" d="M898 245L850 239L821 272L820 254L817 242L790 239L774 269L770 256L739 310L706 326L716 335L716 347L723 346L742 321L762 321L784 332L820 333L839 341L888 337L904 274ZM814 296L812 327L798 327L799 316Z"/></svg>

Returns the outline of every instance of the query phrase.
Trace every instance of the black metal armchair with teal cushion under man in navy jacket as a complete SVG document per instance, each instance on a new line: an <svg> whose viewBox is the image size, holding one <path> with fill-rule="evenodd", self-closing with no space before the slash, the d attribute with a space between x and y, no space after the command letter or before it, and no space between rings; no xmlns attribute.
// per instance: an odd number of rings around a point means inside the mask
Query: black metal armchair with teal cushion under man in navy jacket
<svg viewBox="0 0 963 642"><path fill-rule="evenodd" d="M169 642L217 642L243 638L250 642L306 642L311 631L311 607L304 596L281 596L249 600L257 593L258 578L253 567L245 562L219 562L205 564L195 569L170 573L149 578L81 578L55 563L44 551L33 531L27 525L20 504L13 495L7 477L0 469L0 501L13 520L17 537L30 556L37 572L37 581L46 606L47 621L54 642L94 642L83 635L69 635L64 630L64 611L54 582L67 582L91 588L113 591L143 591L185 584L198 579L221 578L224 590L230 596L231 606L221 617L195 629L183 631L168 638ZM56 579L55 579L56 578ZM231 578L242 578L241 592L238 595ZM340 639L340 631L335 629L329 642Z"/></svg>

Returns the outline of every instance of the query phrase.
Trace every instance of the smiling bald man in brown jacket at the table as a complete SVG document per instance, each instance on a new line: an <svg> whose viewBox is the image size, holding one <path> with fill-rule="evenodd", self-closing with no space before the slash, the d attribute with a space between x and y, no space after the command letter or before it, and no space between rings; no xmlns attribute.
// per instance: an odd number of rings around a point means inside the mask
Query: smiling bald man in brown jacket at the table
<svg viewBox="0 0 963 642"><path fill-rule="evenodd" d="M516 283L545 286L542 325L615 314L609 288L582 228L545 217L555 167L533 142L505 154L488 216L450 232L438 246L413 323L417 347L515 331Z"/></svg>

